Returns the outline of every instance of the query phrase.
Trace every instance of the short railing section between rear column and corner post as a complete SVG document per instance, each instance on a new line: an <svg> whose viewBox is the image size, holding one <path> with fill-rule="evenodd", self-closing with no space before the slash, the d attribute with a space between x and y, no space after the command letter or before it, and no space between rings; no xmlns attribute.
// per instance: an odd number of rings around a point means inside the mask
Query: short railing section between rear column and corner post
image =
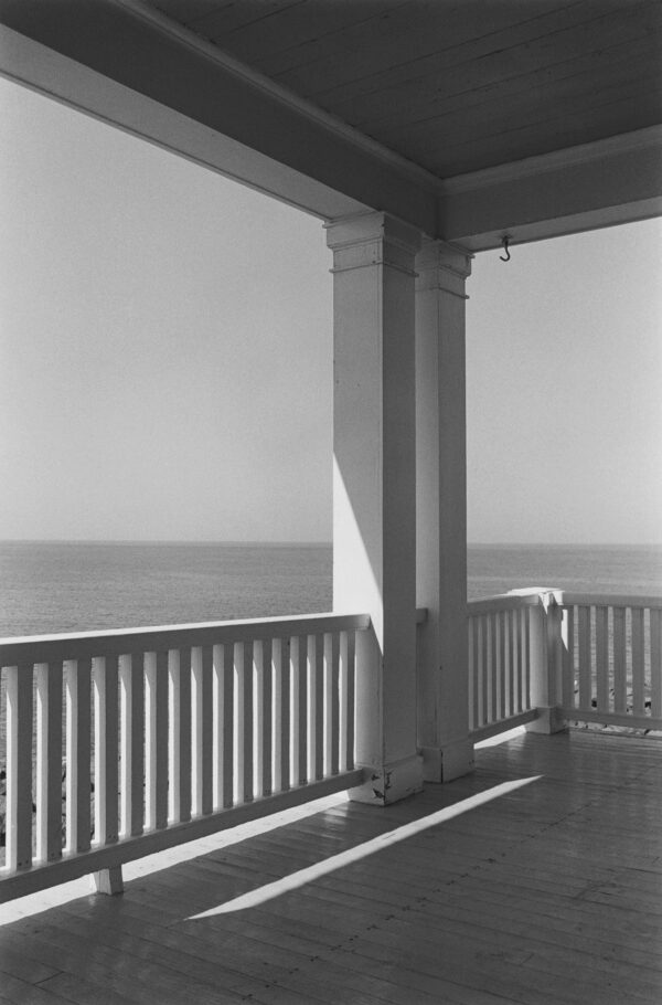
<svg viewBox="0 0 662 1005"><path fill-rule="evenodd" d="M474 740L535 718L531 673L541 616L537 593L468 604L469 731Z"/></svg>

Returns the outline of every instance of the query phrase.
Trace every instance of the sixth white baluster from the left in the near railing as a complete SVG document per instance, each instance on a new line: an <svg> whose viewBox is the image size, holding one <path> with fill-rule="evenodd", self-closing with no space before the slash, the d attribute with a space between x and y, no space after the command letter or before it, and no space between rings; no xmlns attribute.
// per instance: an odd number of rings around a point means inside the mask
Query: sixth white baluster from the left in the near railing
<svg viewBox="0 0 662 1005"><path fill-rule="evenodd" d="M146 653L146 825L168 825L168 653Z"/></svg>

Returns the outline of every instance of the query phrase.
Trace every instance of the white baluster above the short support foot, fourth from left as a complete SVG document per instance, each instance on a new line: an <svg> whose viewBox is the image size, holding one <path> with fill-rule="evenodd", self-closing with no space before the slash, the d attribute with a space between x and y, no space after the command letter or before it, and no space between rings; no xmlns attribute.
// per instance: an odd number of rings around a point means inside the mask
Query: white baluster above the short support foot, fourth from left
<svg viewBox="0 0 662 1005"><path fill-rule="evenodd" d="M94 839L117 840L118 819L118 692L117 656L98 656L94 668Z"/></svg>

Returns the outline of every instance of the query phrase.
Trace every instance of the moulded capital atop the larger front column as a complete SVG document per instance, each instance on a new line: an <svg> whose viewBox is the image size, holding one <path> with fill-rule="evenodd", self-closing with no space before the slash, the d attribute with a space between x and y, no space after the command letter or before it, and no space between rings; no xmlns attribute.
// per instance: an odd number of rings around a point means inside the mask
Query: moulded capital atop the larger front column
<svg viewBox="0 0 662 1005"><path fill-rule="evenodd" d="M324 224L327 245L333 252L332 272L388 265L416 275L415 256L420 231L388 213L356 213Z"/></svg>

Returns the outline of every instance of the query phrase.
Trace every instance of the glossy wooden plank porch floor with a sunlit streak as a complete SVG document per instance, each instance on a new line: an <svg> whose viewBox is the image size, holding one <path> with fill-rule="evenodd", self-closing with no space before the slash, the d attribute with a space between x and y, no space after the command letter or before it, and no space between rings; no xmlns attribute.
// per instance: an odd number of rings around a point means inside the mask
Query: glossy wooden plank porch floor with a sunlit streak
<svg viewBox="0 0 662 1005"><path fill-rule="evenodd" d="M0 1002L660 1005L661 754L525 734L387 810L337 803L17 920Z"/></svg>

